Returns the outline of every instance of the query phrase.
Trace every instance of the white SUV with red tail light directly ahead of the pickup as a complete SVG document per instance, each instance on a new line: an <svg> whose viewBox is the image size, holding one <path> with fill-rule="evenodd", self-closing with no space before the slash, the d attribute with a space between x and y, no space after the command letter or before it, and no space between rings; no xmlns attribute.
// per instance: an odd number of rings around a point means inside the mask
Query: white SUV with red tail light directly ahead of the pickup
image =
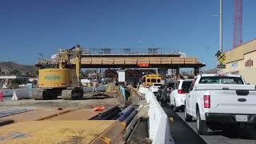
<svg viewBox="0 0 256 144"><path fill-rule="evenodd" d="M170 93L170 107L174 107L174 111L184 110L185 97L189 92L193 79L178 80L174 84L174 88Z"/></svg>

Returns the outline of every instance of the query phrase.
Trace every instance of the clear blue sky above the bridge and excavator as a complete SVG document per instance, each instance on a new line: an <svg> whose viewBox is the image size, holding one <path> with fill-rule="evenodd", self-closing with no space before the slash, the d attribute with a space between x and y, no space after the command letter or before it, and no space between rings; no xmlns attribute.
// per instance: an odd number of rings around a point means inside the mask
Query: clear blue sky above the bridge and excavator
<svg viewBox="0 0 256 144"><path fill-rule="evenodd" d="M256 38L256 1L243 1L243 41ZM223 2L223 47L230 50L233 0ZM160 46L214 67L218 0L2 0L0 61L34 64L60 47ZM141 42L140 44L138 42Z"/></svg>

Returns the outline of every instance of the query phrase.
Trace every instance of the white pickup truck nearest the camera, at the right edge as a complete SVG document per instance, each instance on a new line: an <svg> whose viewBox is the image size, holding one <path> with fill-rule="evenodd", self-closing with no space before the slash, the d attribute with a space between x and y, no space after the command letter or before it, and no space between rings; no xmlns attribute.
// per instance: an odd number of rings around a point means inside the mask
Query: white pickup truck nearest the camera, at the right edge
<svg viewBox="0 0 256 144"><path fill-rule="evenodd" d="M223 126L256 126L256 90L240 75L199 74L185 99L185 120L196 118L198 134Z"/></svg>

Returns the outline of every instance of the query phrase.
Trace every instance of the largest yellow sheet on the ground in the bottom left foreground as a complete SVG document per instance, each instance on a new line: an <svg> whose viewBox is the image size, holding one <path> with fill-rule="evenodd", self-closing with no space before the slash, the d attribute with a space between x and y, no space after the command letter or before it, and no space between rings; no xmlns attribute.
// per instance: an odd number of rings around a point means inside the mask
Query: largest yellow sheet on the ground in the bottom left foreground
<svg viewBox="0 0 256 144"><path fill-rule="evenodd" d="M115 121L18 122L0 129L0 143L90 143Z"/></svg>

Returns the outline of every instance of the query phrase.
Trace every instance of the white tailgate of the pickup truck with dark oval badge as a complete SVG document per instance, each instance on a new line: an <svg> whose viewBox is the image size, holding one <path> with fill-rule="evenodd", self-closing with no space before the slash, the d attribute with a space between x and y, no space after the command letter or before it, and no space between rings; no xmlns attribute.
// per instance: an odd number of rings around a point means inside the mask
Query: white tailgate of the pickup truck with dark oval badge
<svg viewBox="0 0 256 144"><path fill-rule="evenodd" d="M198 84L196 90L210 93L210 113L256 114L254 85Z"/></svg>

